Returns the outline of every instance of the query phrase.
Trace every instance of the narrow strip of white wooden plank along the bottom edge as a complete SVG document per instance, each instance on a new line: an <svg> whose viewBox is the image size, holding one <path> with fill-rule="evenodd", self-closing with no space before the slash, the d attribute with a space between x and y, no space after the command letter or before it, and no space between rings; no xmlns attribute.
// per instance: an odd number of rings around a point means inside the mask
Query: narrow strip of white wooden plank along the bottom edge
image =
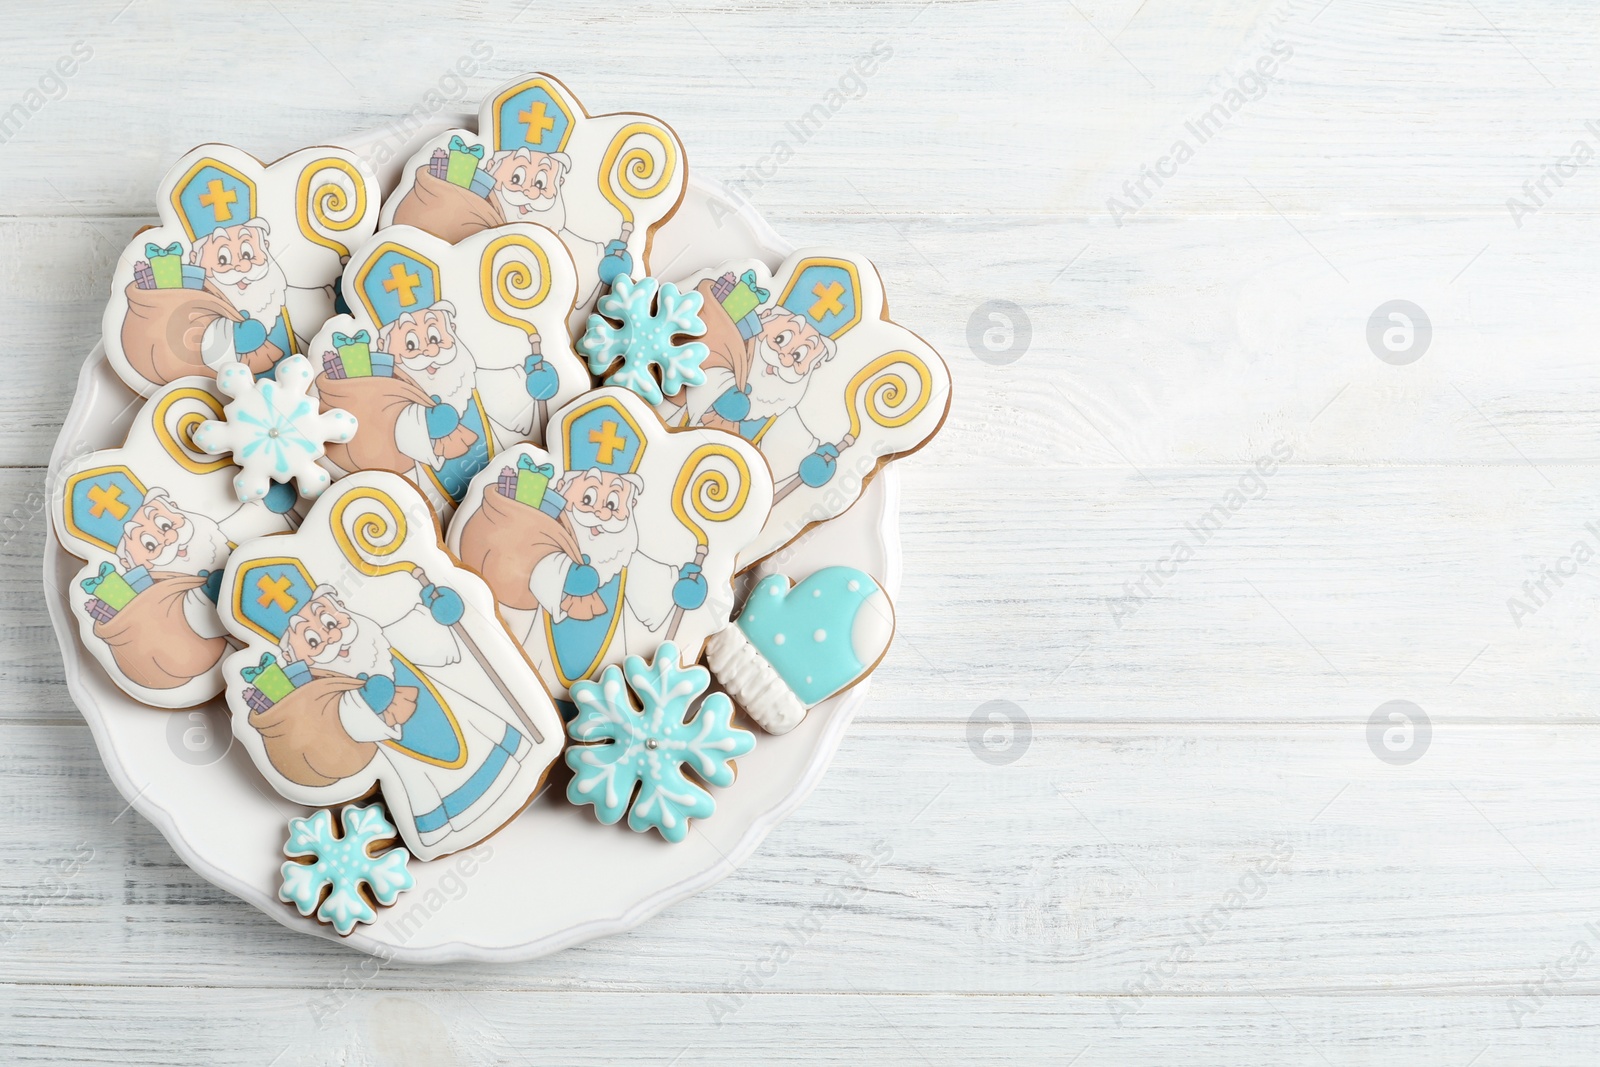
<svg viewBox="0 0 1600 1067"><path fill-rule="evenodd" d="M1494 997L1163 997L1122 1024L1074 997L754 997L722 1025L704 993L352 992L318 1016L299 990L10 987L13 1064L213 1067L467 1064L973 1062L1142 1067L1240 1062L1480 1067L1594 1062L1594 997L1554 995L1512 1022ZM181 1041L174 1035L182 1035ZM181 1051L179 1051L181 1049ZM1077 1057L1077 1059L1074 1059Z"/></svg>

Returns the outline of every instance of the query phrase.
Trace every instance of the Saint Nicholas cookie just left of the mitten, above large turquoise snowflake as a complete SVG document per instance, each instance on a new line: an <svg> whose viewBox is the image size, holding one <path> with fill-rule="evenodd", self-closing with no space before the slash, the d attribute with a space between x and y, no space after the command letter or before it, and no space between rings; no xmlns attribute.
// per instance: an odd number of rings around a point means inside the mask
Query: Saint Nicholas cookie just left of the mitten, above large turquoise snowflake
<svg viewBox="0 0 1600 1067"><path fill-rule="evenodd" d="M558 697L662 641L696 661L728 624L734 558L771 507L760 453L717 430L669 432L624 389L566 405L547 440L474 478L451 550Z"/></svg>

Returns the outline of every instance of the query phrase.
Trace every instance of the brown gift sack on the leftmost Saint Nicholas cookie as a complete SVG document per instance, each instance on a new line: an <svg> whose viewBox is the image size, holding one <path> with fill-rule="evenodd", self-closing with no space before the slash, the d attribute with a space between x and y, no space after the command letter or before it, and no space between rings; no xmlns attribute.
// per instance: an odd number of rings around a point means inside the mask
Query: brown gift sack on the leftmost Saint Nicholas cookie
<svg viewBox="0 0 1600 1067"><path fill-rule="evenodd" d="M150 587L106 622L94 637L106 641L128 680L146 689L176 689L222 659L227 638L200 637L184 617L184 597L205 585L203 577L160 571Z"/></svg>

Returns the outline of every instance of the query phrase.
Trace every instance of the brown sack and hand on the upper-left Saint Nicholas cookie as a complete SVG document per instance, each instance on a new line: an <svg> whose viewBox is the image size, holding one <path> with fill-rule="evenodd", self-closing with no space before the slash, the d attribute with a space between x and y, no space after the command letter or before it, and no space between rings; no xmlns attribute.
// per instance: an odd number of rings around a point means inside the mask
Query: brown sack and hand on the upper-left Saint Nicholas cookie
<svg viewBox="0 0 1600 1067"><path fill-rule="evenodd" d="M128 365L146 381L165 386L187 374L216 378L200 355L200 341L218 318L245 322L210 282L203 290L141 290L130 283L128 317L122 320L122 350ZM267 341L245 363L256 374L283 358Z"/></svg>

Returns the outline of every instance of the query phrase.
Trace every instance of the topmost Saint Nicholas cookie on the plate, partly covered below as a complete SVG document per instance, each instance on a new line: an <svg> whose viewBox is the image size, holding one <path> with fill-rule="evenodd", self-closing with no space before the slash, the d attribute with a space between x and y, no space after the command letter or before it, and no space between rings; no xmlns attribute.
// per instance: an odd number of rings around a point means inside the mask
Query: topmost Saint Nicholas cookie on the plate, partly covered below
<svg viewBox="0 0 1600 1067"><path fill-rule="evenodd" d="M590 115L565 85L530 74L483 101L477 133L450 130L411 157L382 222L446 242L507 222L555 230L578 267L576 331L602 286L650 272L651 232L686 178L683 146L659 118Z"/></svg>

